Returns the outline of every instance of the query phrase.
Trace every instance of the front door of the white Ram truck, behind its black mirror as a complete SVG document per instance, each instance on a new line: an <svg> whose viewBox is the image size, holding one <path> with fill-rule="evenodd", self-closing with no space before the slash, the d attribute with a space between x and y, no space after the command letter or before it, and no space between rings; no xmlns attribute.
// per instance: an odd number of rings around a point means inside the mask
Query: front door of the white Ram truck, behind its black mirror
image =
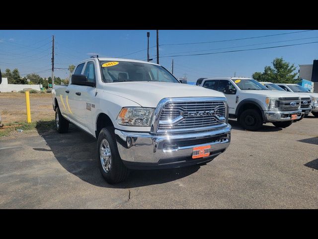
<svg viewBox="0 0 318 239"><path fill-rule="evenodd" d="M95 83L92 86L75 85L73 88L74 101L72 102L75 115L84 130L94 134L94 127L92 122L92 112L95 110L94 98L96 95L96 67L94 61L86 62L82 75L87 77L88 82Z"/></svg>

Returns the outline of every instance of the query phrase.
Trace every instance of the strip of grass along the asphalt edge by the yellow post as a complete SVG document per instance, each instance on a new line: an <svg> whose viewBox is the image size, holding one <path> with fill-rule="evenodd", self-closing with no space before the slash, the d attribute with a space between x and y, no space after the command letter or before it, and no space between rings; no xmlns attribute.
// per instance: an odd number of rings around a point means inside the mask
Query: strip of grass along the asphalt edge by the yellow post
<svg viewBox="0 0 318 239"><path fill-rule="evenodd" d="M24 131L36 129L37 131L49 131L55 128L55 120L39 120L31 123L25 121L14 121L5 124L4 126L9 126L7 128L0 129L0 137L8 135L11 131L17 129L23 129Z"/></svg>

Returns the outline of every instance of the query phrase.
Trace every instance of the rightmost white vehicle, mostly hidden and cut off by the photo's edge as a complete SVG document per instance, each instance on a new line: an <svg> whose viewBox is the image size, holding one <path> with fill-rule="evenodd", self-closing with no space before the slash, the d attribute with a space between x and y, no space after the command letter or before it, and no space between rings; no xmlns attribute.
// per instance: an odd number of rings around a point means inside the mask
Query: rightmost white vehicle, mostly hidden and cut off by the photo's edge
<svg viewBox="0 0 318 239"><path fill-rule="evenodd" d="M306 88L297 85L297 84L281 84L277 83L279 87L281 87L284 91L287 92L294 92L294 93L302 93L310 96L312 98L311 106L312 106L312 114L315 117L318 117L318 93L310 92Z"/></svg>

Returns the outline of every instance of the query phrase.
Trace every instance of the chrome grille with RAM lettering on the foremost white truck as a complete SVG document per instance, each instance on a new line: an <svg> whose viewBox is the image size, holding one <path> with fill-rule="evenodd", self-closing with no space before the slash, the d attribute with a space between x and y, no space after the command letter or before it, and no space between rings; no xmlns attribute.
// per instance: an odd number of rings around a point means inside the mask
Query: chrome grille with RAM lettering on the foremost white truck
<svg viewBox="0 0 318 239"><path fill-rule="evenodd" d="M223 101L168 101L161 109L157 132L205 130L225 123L226 111Z"/></svg>

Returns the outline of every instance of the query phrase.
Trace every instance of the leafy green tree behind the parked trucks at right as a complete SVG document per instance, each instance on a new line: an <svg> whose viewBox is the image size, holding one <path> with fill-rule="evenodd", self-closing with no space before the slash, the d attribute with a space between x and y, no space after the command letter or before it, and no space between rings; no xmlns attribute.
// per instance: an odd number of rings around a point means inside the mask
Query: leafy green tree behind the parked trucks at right
<svg viewBox="0 0 318 239"><path fill-rule="evenodd" d="M284 61L283 57L275 58L272 62L273 67L265 66L264 72L254 72L252 78L256 81L267 81L272 83L297 83L299 80L295 80L297 73L293 73L296 70L294 64L290 65L289 62Z"/></svg>

